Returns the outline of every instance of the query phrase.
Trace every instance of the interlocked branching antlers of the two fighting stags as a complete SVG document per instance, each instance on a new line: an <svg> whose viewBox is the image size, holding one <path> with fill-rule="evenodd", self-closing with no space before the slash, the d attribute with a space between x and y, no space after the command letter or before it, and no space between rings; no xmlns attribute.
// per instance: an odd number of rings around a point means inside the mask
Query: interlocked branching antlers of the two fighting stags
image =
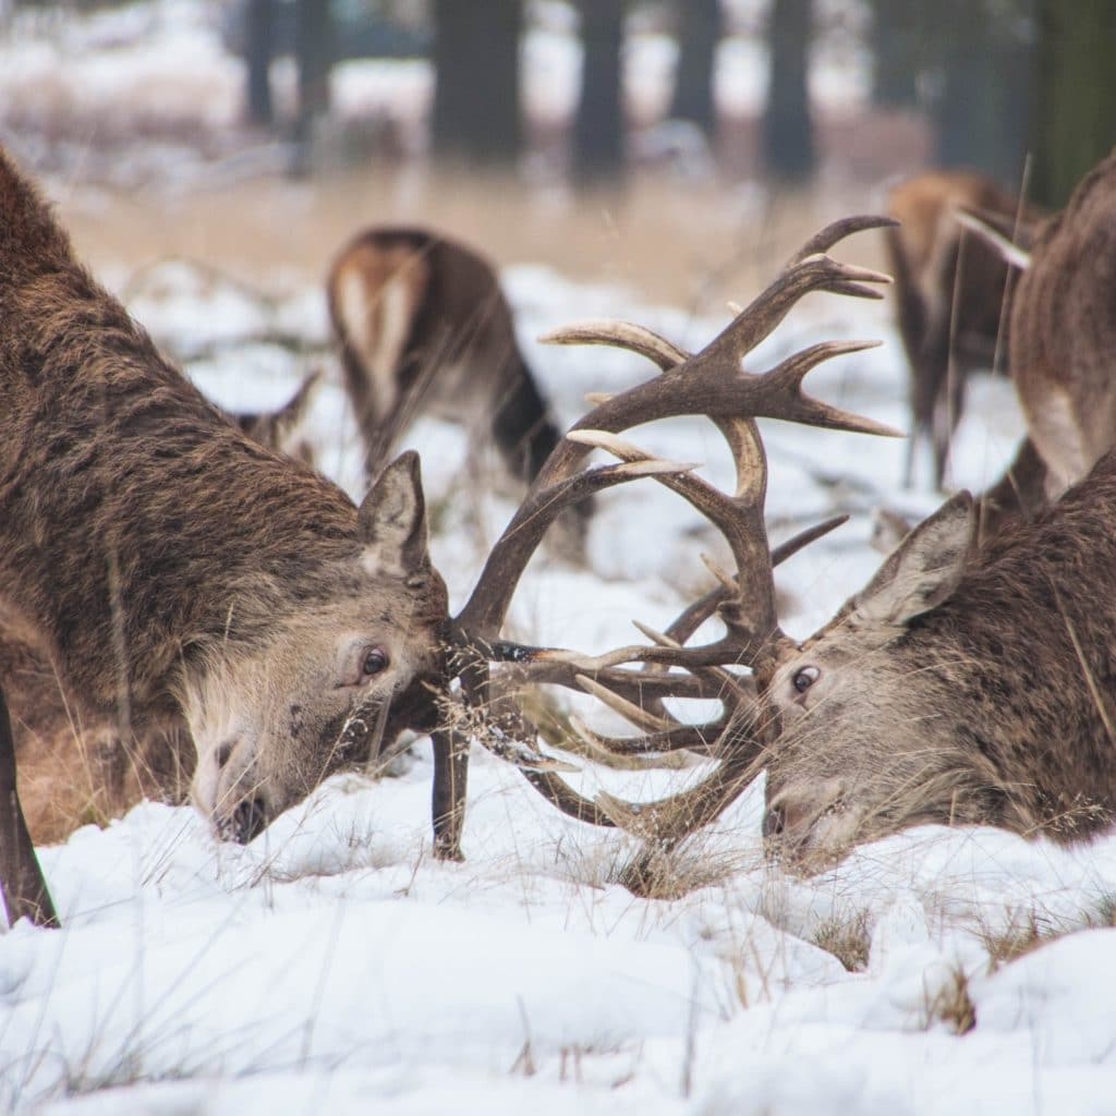
<svg viewBox="0 0 1116 1116"><path fill-rule="evenodd" d="M786 638L776 614L773 566L844 521L829 520L775 552L769 550L763 522L767 456L754 420L782 419L867 434L898 432L802 391L802 381L812 368L835 356L872 347L875 341L814 345L759 375L747 372L743 360L810 291L882 297L874 285L889 282L887 276L840 263L825 252L853 232L888 224L894 222L856 217L824 229L791 258L767 290L696 354L628 323L584 323L542 338L561 345L625 348L651 359L661 375L626 392L598 396L597 406L551 453L493 547L468 603L451 623L451 672L461 679L468 706L483 711L485 716L494 714L502 732L525 734L519 739L533 741L535 727L522 710L509 712L506 703L499 710L491 708L491 663L510 664L506 671L522 682L589 690L642 730L641 737L628 741L577 730L587 733L597 747L636 753L698 748L723 757L712 777L658 804L629 804L604 795L589 801L552 771L540 771L537 763L521 764L533 768L525 770L532 786L567 814L641 831L647 830L647 819L654 819L650 831L662 830L664 839L676 840L715 816L747 785L745 777L750 781L753 776L760 754L754 686L747 675L737 672L762 664ZM693 465L661 461L618 436L632 426L681 415L705 415L720 430L735 462L732 493L694 475ZM583 462L594 449L612 453L619 463L583 470ZM729 543L735 570L714 570L721 584L689 606L665 633L642 629L651 641L646 645L587 656L501 641L500 631L519 578L558 513L591 492L639 477L651 477L672 489L709 519ZM685 646L713 615L724 623L724 635L713 643ZM642 668L633 670L633 664L642 664ZM704 725L684 724L666 713L662 705L666 696L718 698L724 713ZM468 738L459 729L435 735L435 835L441 855L459 855L466 748ZM537 753L532 750L532 754Z"/></svg>

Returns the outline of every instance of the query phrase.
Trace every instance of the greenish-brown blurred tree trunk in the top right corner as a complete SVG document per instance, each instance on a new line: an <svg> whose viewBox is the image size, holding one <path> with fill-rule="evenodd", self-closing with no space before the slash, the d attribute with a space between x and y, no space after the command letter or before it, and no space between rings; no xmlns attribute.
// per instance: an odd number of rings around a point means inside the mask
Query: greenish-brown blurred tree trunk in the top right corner
<svg viewBox="0 0 1116 1116"><path fill-rule="evenodd" d="M1116 4L1039 0L1035 200L1060 208L1116 143Z"/></svg>

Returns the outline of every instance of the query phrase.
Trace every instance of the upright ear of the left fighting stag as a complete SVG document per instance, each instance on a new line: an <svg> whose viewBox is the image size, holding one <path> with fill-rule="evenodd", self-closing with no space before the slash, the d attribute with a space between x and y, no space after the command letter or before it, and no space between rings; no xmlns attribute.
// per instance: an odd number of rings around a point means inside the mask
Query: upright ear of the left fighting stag
<svg viewBox="0 0 1116 1116"><path fill-rule="evenodd" d="M401 453L377 478L357 512L369 569L402 576L415 573L426 554L426 501L414 450Z"/></svg>

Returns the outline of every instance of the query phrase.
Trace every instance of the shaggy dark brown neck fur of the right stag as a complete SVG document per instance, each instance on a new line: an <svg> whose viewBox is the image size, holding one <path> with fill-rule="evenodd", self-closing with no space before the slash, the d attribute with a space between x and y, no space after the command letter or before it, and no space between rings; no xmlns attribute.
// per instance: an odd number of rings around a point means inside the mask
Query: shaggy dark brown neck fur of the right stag
<svg viewBox="0 0 1116 1116"><path fill-rule="evenodd" d="M998 772L1011 817L1065 839L1116 816L1116 454L1033 523L982 550L902 641L945 687L950 731ZM1012 818L1016 821L1012 821Z"/></svg>

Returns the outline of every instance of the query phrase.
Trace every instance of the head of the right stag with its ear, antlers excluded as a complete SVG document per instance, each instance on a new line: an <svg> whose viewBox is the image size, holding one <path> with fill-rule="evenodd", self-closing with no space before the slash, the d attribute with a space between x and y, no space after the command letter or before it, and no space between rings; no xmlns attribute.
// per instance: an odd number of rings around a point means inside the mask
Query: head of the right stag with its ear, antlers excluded
<svg viewBox="0 0 1116 1116"><path fill-rule="evenodd" d="M769 728L772 850L819 866L852 845L923 821L995 821L995 779L961 741L956 658L927 658L929 615L947 605L975 550L964 492L915 528L819 632L757 674ZM958 723L953 723L954 718Z"/></svg>

